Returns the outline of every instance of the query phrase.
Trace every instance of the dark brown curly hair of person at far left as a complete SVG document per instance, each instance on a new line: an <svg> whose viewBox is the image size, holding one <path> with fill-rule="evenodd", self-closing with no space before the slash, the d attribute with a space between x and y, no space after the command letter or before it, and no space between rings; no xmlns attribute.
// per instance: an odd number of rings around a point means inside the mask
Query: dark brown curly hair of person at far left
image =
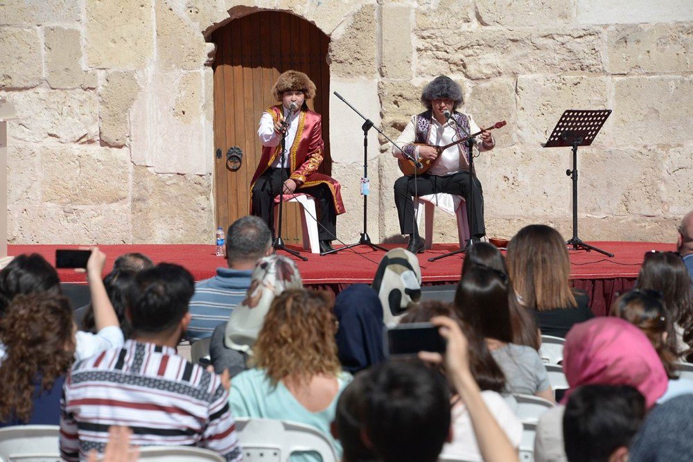
<svg viewBox="0 0 693 462"><path fill-rule="evenodd" d="M7 356L0 365L0 420L14 415L28 422L33 411L35 380L41 379L42 391L50 390L73 362L72 309L62 295L18 295L0 323L7 348Z"/></svg>

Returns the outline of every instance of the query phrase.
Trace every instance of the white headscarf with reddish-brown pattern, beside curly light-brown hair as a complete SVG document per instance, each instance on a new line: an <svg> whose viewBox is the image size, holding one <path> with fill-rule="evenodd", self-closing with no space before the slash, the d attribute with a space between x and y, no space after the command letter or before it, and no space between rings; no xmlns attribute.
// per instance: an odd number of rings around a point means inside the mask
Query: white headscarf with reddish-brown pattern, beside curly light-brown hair
<svg viewBox="0 0 693 462"><path fill-rule="evenodd" d="M301 288L301 274L292 260L280 255L261 258L250 276L245 299L234 308L226 323L227 348L251 354L274 297L284 290Z"/></svg>

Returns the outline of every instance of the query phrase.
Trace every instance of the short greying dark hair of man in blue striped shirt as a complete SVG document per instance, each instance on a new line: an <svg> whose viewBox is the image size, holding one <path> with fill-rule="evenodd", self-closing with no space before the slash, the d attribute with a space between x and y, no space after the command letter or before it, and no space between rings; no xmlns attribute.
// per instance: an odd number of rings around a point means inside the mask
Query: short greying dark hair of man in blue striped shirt
<svg viewBox="0 0 693 462"><path fill-rule="evenodd" d="M229 266L234 261L254 261L265 256L272 245L272 231L258 217L247 215L231 223L226 233Z"/></svg>

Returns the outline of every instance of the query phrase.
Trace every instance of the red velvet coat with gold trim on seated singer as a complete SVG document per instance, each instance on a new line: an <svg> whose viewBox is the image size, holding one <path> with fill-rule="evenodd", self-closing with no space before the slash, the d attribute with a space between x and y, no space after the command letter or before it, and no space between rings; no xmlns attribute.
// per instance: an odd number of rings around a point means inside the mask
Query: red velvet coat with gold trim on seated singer
<svg viewBox="0 0 693 462"><path fill-rule="evenodd" d="M281 105L272 106L265 112L268 112L272 119L277 122L281 114ZM302 188L326 184L332 193L335 211L337 211L337 215L340 215L345 211L344 202L342 202L342 186L334 178L317 172L317 168L322 163L323 146L322 116L317 114L317 112L301 109L296 137L294 143L289 148L290 178L296 181L298 185L296 190L298 192ZM274 159L277 159L279 154L281 154L281 144L274 148L263 146L258 168L255 170L252 181L250 181L251 191L255 181L267 168L272 166L272 162L274 162Z"/></svg>

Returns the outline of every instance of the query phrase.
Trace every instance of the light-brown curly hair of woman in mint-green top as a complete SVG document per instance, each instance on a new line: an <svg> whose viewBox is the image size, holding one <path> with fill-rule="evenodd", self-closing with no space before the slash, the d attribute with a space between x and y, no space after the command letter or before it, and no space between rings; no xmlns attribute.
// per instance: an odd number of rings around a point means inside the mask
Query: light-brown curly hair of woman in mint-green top
<svg viewBox="0 0 693 462"><path fill-rule="evenodd" d="M317 374L337 375L334 301L325 292L286 290L265 316L252 364L263 368L273 387L285 377L306 384Z"/></svg>

